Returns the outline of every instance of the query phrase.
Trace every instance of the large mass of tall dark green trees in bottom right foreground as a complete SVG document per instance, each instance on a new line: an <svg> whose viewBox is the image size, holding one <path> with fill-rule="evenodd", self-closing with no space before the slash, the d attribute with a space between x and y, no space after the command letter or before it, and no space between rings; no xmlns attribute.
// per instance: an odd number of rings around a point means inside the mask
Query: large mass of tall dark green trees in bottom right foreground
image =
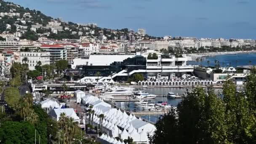
<svg viewBox="0 0 256 144"><path fill-rule="evenodd" d="M211 89L195 88L156 124L151 144L256 143L256 69L247 77L244 93L231 80L223 85L223 99ZM175 133L175 135L172 135Z"/></svg>

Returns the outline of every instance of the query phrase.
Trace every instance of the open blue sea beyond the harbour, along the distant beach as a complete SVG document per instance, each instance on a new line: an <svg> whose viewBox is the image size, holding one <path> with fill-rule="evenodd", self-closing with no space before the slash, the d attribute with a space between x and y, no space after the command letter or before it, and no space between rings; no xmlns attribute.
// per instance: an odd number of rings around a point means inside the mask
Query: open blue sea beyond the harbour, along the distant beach
<svg viewBox="0 0 256 144"><path fill-rule="evenodd" d="M207 61L210 61L210 66L215 66L215 60L219 61L220 66L224 64L224 67L231 64L232 67L237 67L241 65L249 65L249 61L251 61L252 65L256 65L256 53L250 54L227 54L227 55L219 55L214 57L206 57L206 59L202 62L197 62L197 64L202 64L203 66L207 67ZM196 64L195 61L189 61L189 64Z"/></svg>

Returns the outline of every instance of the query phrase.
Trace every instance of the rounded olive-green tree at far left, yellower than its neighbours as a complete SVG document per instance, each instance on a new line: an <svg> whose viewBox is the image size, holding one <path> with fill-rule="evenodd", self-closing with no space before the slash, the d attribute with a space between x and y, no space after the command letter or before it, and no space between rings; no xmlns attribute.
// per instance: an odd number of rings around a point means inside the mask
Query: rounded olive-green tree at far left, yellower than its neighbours
<svg viewBox="0 0 256 144"><path fill-rule="evenodd" d="M6 88L4 91L5 101L8 106L15 109L19 104L19 89L18 88Z"/></svg>

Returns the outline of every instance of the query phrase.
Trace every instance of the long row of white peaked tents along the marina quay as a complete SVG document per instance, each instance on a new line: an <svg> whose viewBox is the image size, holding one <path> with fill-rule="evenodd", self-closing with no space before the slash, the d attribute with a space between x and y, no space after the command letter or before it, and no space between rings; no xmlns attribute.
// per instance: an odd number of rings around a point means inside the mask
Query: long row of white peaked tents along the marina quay
<svg viewBox="0 0 256 144"><path fill-rule="evenodd" d="M100 125L99 115L103 114L102 131L111 137L119 137L120 139L128 139L128 136L134 142L148 142L147 134L153 135L155 125L142 121L135 115L127 115L120 109L111 108L111 105L102 101L101 99L86 95L82 97L82 103L93 106L95 113L93 114L93 125ZM92 116L91 116L92 117ZM89 116L86 117L89 120ZM111 142L110 142L111 143Z"/></svg>

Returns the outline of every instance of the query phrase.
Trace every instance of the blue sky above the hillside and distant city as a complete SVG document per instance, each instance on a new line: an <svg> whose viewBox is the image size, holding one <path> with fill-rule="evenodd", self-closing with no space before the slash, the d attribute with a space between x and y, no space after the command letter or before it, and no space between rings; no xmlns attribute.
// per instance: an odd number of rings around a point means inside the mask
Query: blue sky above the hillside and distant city
<svg viewBox="0 0 256 144"><path fill-rule="evenodd" d="M6 0L54 18L163 37L256 39L256 0Z"/></svg>

